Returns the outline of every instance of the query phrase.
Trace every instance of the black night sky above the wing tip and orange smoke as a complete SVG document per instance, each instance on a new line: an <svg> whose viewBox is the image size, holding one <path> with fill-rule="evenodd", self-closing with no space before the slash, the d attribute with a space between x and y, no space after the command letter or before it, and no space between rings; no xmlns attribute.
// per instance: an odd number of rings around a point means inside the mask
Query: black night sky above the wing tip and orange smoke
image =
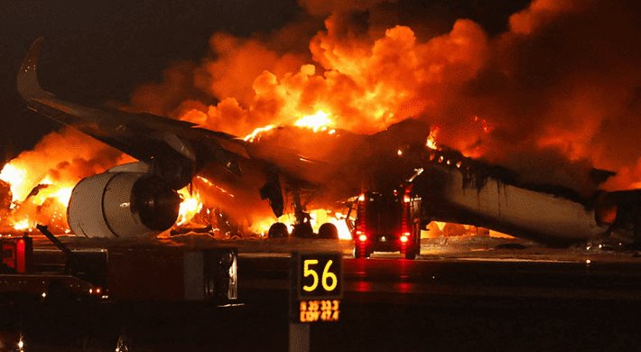
<svg viewBox="0 0 641 352"><path fill-rule="evenodd" d="M496 33L527 3L399 0L394 6L407 14L404 24L432 21L446 31L456 18L467 17ZM27 111L15 91L23 55L39 36L46 39L42 86L73 101L101 104L126 102L133 88L159 80L172 61L200 60L213 32L248 36L303 15L295 0L0 0L0 162L60 127Z"/></svg>

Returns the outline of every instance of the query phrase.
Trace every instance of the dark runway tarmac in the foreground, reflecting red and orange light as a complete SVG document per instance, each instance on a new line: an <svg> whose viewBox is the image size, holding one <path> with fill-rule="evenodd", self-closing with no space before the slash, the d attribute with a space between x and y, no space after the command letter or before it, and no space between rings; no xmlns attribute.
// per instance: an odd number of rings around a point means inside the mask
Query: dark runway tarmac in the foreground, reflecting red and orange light
<svg viewBox="0 0 641 352"><path fill-rule="evenodd" d="M146 242L101 243L99 249ZM493 238L423 240L416 261L351 258L349 241L158 240L185 248L237 246L240 305L154 301L3 307L2 331L30 350L286 350L292 251L343 254L337 323L311 327L312 351L633 350L641 346L641 259L636 252L550 249ZM55 250L37 241L38 250ZM78 245L80 243L81 245ZM506 244L510 244L507 245ZM519 242L519 244L524 244ZM0 331L0 332L2 332ZM7 340L0 334L0 341Z"/></svg>

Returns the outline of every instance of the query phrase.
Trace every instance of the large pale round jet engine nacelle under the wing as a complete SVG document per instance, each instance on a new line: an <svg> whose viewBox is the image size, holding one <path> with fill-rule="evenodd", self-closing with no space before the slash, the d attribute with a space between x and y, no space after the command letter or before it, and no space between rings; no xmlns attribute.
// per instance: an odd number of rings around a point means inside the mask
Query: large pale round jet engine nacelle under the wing
<svg viewBox="0 0 641 352"><path fill-rule="evenodd" d="M71 231L88 237L155 236L172 227L181 198L161 179L141 172L105 172L71 192Z"/></svg>

